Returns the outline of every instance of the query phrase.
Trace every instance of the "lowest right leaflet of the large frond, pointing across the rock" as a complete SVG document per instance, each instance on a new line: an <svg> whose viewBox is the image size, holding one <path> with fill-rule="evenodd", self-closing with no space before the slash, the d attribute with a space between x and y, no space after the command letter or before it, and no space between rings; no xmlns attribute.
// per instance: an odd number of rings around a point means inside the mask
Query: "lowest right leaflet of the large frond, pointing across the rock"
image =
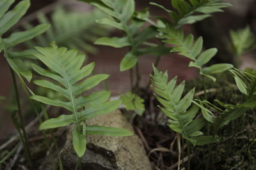
<svg viewBox="0 0 256 170"><path fill-rule="evenodd" d="M86 134L106 136L131 136L132 132L118 127L86 126Z"/></svg>

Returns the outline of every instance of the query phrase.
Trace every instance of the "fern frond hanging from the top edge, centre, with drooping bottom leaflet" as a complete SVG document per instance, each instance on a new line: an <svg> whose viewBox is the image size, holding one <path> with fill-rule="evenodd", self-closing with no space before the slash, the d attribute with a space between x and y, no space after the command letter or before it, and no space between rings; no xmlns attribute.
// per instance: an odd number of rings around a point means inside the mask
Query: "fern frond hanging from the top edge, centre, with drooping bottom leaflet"
<svg viewBox="0 0 256 170"><path fill-rule="evenodd" d="M149 26L143 27L145 22L150 22L148 10L141 12L135 11L134 0L124 1L112 1L112 0L100 0L100 1L88 1L100 10L108 14L108 17L97 20L99 24L107 24L124 31L124 37L112 37L112 38L99 38L95 41L97 45L108 45L115 48L122 48L129 46L129 52L124 56L120 63L120 71L131 69L138 62L138 57L145 54L164 55L168 53L169 49L166 46L156 45L140 48L145 41L151 38L156 38L158 32L156 27ZM143 29L141 30L141 27ZM161 48L161 50L159 50Z"/></svg>

